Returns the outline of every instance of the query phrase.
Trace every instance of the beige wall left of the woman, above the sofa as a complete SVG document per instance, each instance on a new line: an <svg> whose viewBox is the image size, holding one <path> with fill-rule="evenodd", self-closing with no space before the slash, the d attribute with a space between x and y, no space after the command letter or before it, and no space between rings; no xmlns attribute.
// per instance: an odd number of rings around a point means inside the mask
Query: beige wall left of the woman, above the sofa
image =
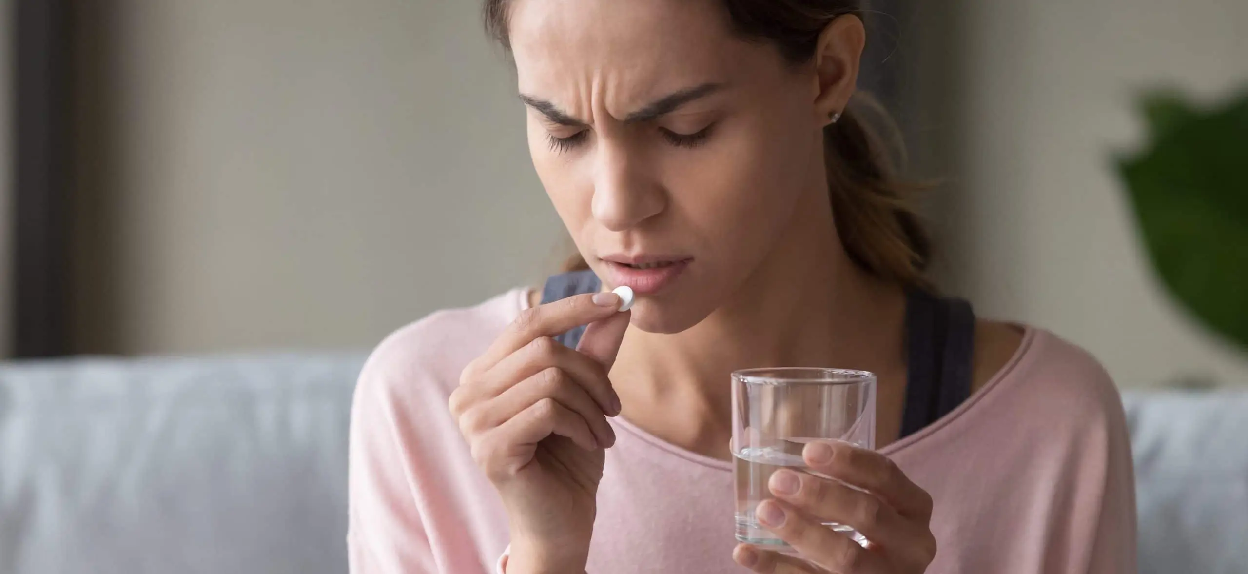
<svg viewBox="0 0 1248 574"><path fill-rule="evenodd" d="M81 351L366 348L555 261L477 1L81 10Z"/></svg>

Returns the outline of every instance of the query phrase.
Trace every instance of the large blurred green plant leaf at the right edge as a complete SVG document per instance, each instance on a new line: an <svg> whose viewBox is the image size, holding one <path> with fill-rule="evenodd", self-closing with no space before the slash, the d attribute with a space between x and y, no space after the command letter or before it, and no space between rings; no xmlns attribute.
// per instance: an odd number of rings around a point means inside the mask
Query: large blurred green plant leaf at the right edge
<svg viewBox="0 0 1248 574"><path fill-rule="evenodd" d="M1153 267L1203 324L1248 349L1248 94L1198 110L1142 101L1152 142L1119 160Z"/></svg>

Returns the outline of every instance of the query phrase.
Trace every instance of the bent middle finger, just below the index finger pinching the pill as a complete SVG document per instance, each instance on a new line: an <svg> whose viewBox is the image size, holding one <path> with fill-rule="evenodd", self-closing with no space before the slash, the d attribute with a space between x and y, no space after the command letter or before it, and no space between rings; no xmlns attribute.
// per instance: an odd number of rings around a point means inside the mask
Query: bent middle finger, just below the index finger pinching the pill
<svg viewBox="0 0 1248 574"><path fill-rule="evenodd" d="M550 337L538 337L524 348L507 356L482 377L480 399L497 397L512 386L548 368L557 367L572 381L585 388L602 411L612 417L619 414L619 397L607 378L607 369L585 354L565 347Z"/></svg>

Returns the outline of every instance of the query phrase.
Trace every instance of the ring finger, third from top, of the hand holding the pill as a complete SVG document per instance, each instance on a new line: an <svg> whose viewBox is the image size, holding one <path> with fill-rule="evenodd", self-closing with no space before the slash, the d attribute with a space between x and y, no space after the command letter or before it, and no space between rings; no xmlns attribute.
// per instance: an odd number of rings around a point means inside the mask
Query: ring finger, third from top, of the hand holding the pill
<svg viewBox="0 0 1248 574"><path fill-rule="evenodd" d="M558 367L542 371L508 388L493 401L483 402L469 409L461 418L461 426L464 427L462 430L467 435L473 430L498 427L547 397L555 399L583 418L594 433L594 439L603 448L615 444L615 432L607 422L603 409L589 397L584 387L572 381Z"/></svg>

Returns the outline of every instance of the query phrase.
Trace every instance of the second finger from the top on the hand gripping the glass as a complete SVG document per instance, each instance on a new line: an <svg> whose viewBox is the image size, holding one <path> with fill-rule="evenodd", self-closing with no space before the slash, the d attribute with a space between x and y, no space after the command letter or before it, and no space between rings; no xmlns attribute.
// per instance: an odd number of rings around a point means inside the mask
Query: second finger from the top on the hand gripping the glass
<svg viewBox="0 0 1248 574"><path fill-rule="evenodd" d="M897 514L874 494L836 480L792 470L776 470L768 488L781 500L821 523L854 527L872 544L906 549L920 538L919 527Z"/></svg>

